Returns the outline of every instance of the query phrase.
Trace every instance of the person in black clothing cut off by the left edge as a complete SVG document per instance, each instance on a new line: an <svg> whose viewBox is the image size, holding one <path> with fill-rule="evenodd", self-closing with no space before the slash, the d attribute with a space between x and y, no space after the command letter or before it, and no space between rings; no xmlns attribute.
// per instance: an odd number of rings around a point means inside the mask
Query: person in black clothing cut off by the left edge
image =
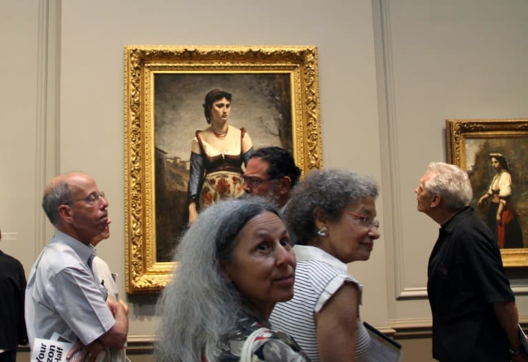
<svg viewBox="0 0 528 362"><path fill-rule="evenodd" d="M17 346L28 344L24 321L24 290L25 273L22 264L0 250L0 362L16 361Z"/></svg>

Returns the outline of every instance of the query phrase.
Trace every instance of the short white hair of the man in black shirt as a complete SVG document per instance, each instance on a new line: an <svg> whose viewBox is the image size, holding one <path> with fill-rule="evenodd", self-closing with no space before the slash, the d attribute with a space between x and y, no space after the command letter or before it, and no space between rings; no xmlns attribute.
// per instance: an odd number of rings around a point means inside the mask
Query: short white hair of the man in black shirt
<svg viewBox="0 0 528 362"><path fill-rule="evenodd" d="M426 169L430 177L423 187L433 195L439 195L449 209L458 210L469 204L473 190L467 172L454 164L431 162Z"/></svg>

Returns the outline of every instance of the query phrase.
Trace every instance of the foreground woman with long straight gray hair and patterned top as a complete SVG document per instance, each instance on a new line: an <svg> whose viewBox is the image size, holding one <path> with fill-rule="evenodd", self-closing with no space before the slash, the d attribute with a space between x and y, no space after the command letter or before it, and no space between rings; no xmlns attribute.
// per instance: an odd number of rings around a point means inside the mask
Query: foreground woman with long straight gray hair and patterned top
<svg viewBox="0 0 528 362"><path fill-rule="evenodd" d="M309 361L267 320L276 302L292 298L296 265L270 202L208 207L184 234L174 261L177 272L158 302L157 361Z"/></svg>

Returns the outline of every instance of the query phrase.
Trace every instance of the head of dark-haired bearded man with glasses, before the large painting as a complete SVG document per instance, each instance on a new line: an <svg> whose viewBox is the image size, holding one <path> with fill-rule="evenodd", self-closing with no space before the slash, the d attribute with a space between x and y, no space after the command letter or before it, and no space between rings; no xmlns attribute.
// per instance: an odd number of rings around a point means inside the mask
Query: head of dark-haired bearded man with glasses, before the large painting
<svg viewBox="0 0 528 362"><path fill-rule="evenodd" d="M288 151L281 147L264 147L252 154L245 167L244 191L272 200L282 213L299 177L300 169Z"/></svg>

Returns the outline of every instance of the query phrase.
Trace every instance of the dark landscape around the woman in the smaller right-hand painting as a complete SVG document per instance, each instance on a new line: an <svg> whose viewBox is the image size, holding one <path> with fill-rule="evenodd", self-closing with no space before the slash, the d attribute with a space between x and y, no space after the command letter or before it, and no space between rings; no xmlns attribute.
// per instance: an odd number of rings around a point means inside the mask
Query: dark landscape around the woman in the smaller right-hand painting
<svg viewBox="0 0 528 362"><path fill-rule="evenodd" d="M511 174L512 195L522 229L522 240L528 246L528 138L475 138L465 142L466 169L473 188L474 207L485 221L485 209L477 206L480 198L489 189L495 170L489 153L502 153L508 162Z"/></svg>

